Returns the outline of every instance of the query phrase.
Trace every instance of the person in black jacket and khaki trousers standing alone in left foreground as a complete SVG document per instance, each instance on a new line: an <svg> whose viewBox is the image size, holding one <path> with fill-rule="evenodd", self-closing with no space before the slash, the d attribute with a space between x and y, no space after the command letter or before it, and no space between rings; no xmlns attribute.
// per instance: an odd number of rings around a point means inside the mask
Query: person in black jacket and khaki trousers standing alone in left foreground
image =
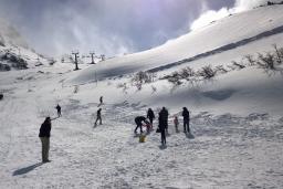
<svg viewBox="0 0 283 189"><path fill-rule="evenodd" d="M49 162L51 118L46 117L40 127L39 137L42 144L42 162Z"/></svg>

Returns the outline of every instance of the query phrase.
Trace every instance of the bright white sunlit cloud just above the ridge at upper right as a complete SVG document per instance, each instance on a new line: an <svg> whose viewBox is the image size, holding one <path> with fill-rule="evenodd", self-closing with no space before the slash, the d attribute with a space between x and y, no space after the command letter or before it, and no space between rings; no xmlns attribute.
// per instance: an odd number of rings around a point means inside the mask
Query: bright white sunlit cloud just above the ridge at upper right
<svg viewBox="0 0 283 189"><path fill-rule="evenodd" d="M193 31L193 30L203 28L209 23L211 23L212 21L217 21L217 20L223 19L224 17L228 17L230 13L251 10L255 7L266 4L268 1L282 2L282 0L235 0L234 7L231 9L221 8L218 11L214 11L214 10L205 11L197 20L195 20L191 23L190 29Z"/></svg>

